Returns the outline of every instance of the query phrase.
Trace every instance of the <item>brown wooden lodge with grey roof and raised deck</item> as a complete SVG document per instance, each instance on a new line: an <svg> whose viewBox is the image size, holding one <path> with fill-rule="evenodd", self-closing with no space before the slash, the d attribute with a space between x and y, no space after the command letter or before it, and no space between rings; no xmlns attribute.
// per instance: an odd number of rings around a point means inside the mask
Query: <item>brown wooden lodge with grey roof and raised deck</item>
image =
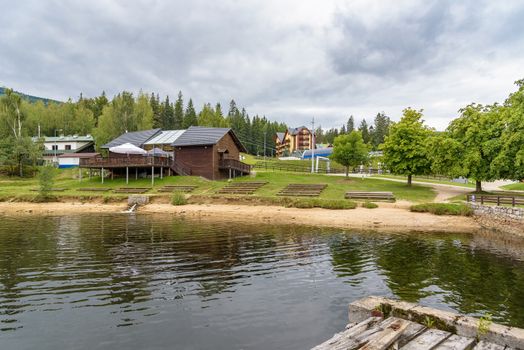
<svg viewBox="0 0 524 350"><path fill-rule="evenodd" d="M147 154L114 153L114 147L131 144ZM192 126L187 130L161 130L125 133L102 146L107 156L80 159L80 168L105 176L131 178L171 175L202 176L210 180L247 175L251 167L240 161L246 152L229 128ZM145 152L144 152L145 153Z"/></svg>

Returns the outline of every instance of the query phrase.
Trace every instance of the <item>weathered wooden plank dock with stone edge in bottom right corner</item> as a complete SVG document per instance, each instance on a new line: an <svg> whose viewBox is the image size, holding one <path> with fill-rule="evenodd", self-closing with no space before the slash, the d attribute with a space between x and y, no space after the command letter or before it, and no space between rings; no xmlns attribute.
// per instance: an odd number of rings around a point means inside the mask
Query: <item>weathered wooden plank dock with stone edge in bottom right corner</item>
<svg viewBox="0 0 524 350"><path fill-rule="evenodd" d="M396 300L358 300L350 305L349 317L356 321L313 350L524 349L523 329L482 324L472 317Z"/></svg>

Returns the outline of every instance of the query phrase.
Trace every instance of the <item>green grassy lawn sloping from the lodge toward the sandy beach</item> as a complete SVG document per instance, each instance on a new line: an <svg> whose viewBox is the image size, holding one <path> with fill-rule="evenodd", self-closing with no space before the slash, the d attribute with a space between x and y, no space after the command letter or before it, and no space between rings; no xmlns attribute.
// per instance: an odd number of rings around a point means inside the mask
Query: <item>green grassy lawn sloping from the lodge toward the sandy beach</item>
<svg viewBox="0 0 524 350"><path fill-rule="evenodd" d="M111 180L106 178L104 184L101 183L100 177L87 179L84 175L82 182L77 178L77 169L60 170L54 184L54 188L64 188L63 192L55 192L58 197L79 198L79 199L124 199L128 194L117 194L111 192L91 192L81 191L80 188L89 187L151 187L150 179L131 178L129 185L126 186L125 179L115 178ZM276 198L277 192L290 183L314 184L324 183L327 188L322 192L319 199L321 200L340 200L344 199L346 191L390 191L393 192L397 199L408 200L412 202L428 202L435 197L434 191L429 187L413 185L411 188L404 183L380 180L375 178L348 178L343 176L327 176L321 174L296 174L284 172L264 172L257 171L255 177L240 177L232 181L268 181L268 184L260 188L251 197L271 197ZM170 176L164 179L155 179L155 185L147 193L153 196L171 196L170 193L158 192L158 189L164 185L195 185L197 188L192 192L194 195L210 196L214 195L216 190L225 186L228 180L210 181L195 176ZM16 177L0 177L0 200L31 200L37 194L39 187L38 179L18 179ZM229 196L228 196L229 197ZM234 196L233 196L234 197Z"/></svg>

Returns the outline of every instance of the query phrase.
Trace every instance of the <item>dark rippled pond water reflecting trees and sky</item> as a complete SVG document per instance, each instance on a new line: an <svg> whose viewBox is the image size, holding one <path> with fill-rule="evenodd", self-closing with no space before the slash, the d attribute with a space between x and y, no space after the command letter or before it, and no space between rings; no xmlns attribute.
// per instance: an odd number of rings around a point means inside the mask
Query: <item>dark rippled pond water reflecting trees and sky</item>
<svg viewBox="0 0 524 350"><path fill-rule="evenodd" d="M524 327L522 251L479 235L0 216L0 348L307 349L369 295Z"/></svg>

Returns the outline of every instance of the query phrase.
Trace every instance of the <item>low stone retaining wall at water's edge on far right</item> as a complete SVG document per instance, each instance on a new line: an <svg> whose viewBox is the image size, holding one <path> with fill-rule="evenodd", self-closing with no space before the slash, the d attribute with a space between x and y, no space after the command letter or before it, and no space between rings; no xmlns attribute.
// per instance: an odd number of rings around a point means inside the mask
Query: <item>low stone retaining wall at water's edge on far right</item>
<svg viewBox="0 0 524 350"><path fill-rule="evenodd" d="M482 227L524 236L524 208L469 203Z"/></svg>

